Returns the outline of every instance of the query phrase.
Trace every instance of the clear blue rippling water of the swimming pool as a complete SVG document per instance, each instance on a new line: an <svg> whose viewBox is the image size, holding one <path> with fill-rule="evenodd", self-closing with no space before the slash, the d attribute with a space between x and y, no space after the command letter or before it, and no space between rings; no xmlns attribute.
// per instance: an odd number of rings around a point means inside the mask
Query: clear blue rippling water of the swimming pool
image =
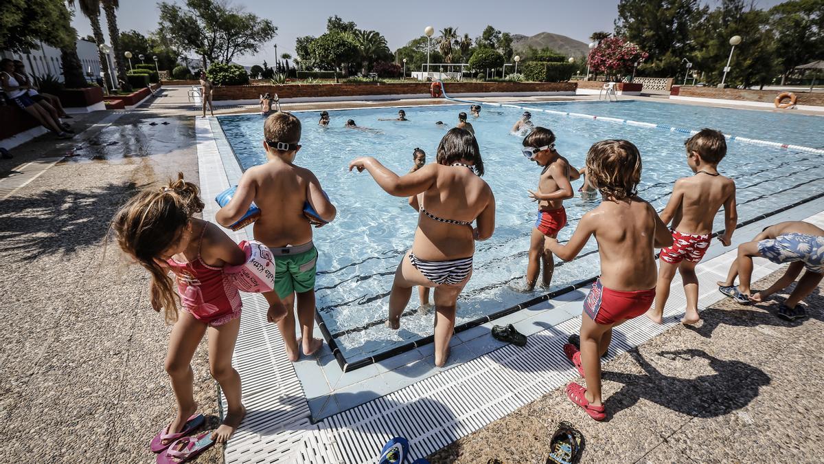
<svg viewBox="0 0 824 464"><path fill-rule="evenodd" d="M551 106L614 116L635 121L677 125L686 129L710 126L732 135L814 147L824 145L822 121L817 116L776 114L765 111L724 110L653 102L563 102L528 106ZM367 173L349 173L353 158L372 155L393 169L406 173L412 167L412 151L424 149L432 163L438 141L447 129L435 125L456 124L457 113L468 105L406 108L408 122L377 121L394 117L396 108L330 111L331 125L317 125L318 113L295 113L303 123L303 148L296 163L311 170L338 207L338 217L316 230L321 251L316 285L318 309L349 361L382 353L397 345L432 334L431 312L414 311L417 292L401 321L392 331L370 323L386 317L392 277L403 253L410 248L417 213L405 198L389 196ZM475 320L539 295L519 294L508 285L522 279L527 268L529 235L536 206L527 189L536 187L541 168L520 153L522 137L509 130L520 115L514 108L485 106L479 119L471 118L486 165L485 180L497 201L496 230L492 239L477 244L475 273L458 303L457 324ZM373 130L343 127L347 119ZM220 116L227 139L243 168L265 161L260 148L263 118L259 115ZM557 149L574 166L583 165L589 146L597 140L620 138L636 144L643 156L644 173L640 196L653 206L665 206L672 183L691 175L686 166L685 134L667 130L620 125L546 113L533 114L536 125L555 131ZM774 211L822 192L821 155L765 148L738 142L728 143L727 158L719 170L737 182L739 221ZM578 187L579 182L574 182ZM565 201L569 226L559 239L569 239L578 218L597 203L576 197ZM723 228L723 215L715 230ZM596 249L592 240L582 253ZM597 253L557 268L553 288L592 277L598 272ZM367 327L364 329L364 327ZM348 331L347 334L341 334Z"/></svg>

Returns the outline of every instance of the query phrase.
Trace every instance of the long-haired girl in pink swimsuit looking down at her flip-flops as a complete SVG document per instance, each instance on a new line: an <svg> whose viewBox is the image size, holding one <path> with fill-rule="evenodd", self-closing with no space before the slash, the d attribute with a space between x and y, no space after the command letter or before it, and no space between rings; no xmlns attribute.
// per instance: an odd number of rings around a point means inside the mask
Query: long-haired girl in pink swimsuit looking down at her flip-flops
<svg viewBox="0 0 824 464"><path fill-rule="evenodd" d="M241 296L223 275L224 266L246 262L246 254L218 226L193 217L203 211L196 185L183 174L166 187L147 189L131 199L112 220L118 244L152 276L152 308L163 308L174 323L166 355L166 372L177 399L177 416L152 440L154 452L166 452L178 438L204 422L195 414L194 376L190 362L208 333L209 371L227 399L227 414L212 433L214 441L232 436L246 409L241 404L241 377L232 368L240 330ZM177 282L176 295L170 276ZM182 311L177 310L180 300ZM171 449L171 448L170 448Z"/></svg>

